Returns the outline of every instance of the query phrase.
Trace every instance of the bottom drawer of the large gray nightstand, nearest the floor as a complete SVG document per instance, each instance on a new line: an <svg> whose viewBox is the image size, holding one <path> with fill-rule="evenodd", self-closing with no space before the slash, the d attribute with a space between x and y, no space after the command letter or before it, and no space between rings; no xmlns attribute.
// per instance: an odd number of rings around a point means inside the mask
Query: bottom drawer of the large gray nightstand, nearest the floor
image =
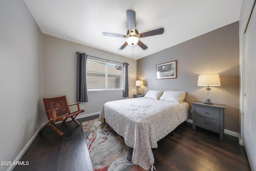
<svg viewBox="0 0 256 171"><path fill-rule="evenodd" d="M196 124L196 126L200 126L202 128L206 128L206 129L212 129L212 130L218 131L218 132L220 130L220 121L208 119L205 117L196 116L195 124Z"/></svg>

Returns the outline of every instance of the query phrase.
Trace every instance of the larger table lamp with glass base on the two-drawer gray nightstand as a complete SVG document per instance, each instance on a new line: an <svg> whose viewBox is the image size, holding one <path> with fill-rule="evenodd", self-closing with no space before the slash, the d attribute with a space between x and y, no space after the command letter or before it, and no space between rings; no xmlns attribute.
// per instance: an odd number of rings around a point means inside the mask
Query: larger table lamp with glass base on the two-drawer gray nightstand
<svg viewBox="0 0 256 171"><path fill-rule="evenodd" d="M205 74L198 76L198 83L197 86L207 86L207 99L204 104L210 104L213 103L210 100L210 86L220 86L220 76L219 74Z"/></svg>

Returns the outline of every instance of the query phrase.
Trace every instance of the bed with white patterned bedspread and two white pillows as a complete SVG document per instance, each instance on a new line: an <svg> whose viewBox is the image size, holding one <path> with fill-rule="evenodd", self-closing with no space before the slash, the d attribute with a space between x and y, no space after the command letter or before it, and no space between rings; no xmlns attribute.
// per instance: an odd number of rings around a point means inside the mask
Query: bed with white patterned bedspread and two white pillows
<svg viewBox="0 0 256 171"><path fill-rule="evenodd" d="M151 148L188 117L186 92L153 91L144 97L109 101L99 119L105 121L133 148L132 161L145 170L153 167Z"/></svg>

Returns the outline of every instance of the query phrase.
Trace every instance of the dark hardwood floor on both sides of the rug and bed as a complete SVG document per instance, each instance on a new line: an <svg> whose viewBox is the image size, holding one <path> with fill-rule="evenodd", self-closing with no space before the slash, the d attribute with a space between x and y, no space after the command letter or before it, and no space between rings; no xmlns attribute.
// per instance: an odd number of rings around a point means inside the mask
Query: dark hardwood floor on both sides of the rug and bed
<svg viewBox="0 0 256 171"><path fill-rule="evenodd" d="M60 129L62 137L51 126L39 133L20 159L29 165L17 165L13 171L93 171L82 126L69 123ZM222 141L218 133L200 128L194 131L190 123L182 123L152 151L157 171L250 171L238 138L225 134Z"/></svg>

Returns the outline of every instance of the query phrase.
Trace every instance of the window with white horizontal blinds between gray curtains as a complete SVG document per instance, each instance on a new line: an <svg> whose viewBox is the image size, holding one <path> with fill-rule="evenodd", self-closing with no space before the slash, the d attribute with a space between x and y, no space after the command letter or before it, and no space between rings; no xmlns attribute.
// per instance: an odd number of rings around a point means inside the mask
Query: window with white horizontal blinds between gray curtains
<svg viewBox="0 0 256 171"><path fill-rule="evenodd" d="M87 59L87 89L123 89L124 67Z"/></svg>

